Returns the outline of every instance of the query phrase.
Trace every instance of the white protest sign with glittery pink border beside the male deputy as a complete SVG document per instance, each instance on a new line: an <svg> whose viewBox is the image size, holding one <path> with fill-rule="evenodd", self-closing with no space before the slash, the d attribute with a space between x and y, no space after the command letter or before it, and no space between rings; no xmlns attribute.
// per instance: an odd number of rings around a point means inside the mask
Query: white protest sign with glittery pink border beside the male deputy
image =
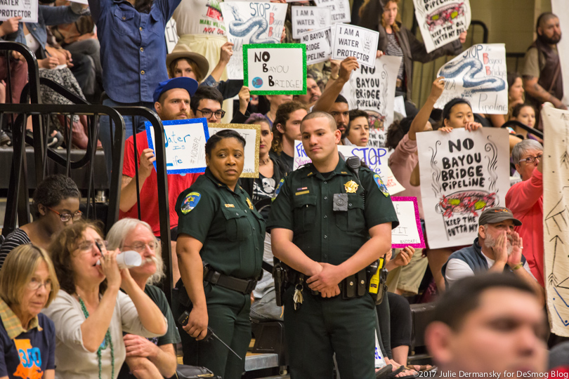
<svg viewBox="0 0 569 379"><path fill-rule="evenodd" d="M391 248L425 248L417 197L391 197L399 226L391 230Z"/></svg>

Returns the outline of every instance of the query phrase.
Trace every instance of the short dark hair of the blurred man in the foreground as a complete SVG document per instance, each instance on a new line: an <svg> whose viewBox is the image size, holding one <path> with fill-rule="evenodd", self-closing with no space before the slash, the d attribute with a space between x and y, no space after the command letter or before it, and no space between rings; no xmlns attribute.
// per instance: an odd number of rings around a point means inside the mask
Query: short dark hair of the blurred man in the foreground
<svg viewBox="0 0 569 379"><path fill-rule="evenodd" d="M431 321L447 324L453 331L459 331L466 315L480 305L480 296L490 289L510 288L537 294L533 289L513 274L481 273L457 281L439 298Z"/></svg>

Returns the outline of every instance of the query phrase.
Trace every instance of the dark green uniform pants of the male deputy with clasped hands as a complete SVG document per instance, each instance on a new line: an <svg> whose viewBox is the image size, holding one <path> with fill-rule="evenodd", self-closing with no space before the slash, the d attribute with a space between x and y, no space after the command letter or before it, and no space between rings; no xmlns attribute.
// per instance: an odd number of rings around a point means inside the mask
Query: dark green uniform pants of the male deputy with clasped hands
<svg viewBox="0 0 569 379"><path fill-rule="evenodd" d="M343 300L303 291L294 310L294 286L284 302L284 333L292 379L329 379L336 361L342 379L372 379L374 374L375 305L368 294Z"/></svg>

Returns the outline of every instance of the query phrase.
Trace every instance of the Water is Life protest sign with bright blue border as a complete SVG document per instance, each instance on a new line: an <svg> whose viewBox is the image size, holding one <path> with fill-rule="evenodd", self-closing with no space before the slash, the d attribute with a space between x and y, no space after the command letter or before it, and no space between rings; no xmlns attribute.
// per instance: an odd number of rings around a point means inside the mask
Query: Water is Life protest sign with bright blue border
<svg viewBox="0 0 569 379"><path fill-rule="evenodd" d="M206 168L205 143L209 140L207 119L162 121L166 149L166 173L203 173ZM145 122L148 147L154 149L154 128ZM139 152L140 153L140 152ZM156 162L154 162L156 169Z"/></svg>

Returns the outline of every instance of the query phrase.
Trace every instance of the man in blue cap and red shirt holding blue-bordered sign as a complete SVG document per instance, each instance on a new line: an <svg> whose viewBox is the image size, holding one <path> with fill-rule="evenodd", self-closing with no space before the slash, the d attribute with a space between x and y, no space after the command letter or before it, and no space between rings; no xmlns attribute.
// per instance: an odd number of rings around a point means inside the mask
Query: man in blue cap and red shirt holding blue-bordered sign
<svg viewBox="0 0 569 379"><path fill-rule="evenodd" d="M162 81L154 91L156 113L162 121L189 119L190 97L197 90L198 83L194 79L179 77ZM122 167L121 198L119 201L119 218L138 218L136 198L136 182L134 161L134 136L124 143L124 164ZM138 159L138 188L140 189L140 220L148 222L152 232L159 237L160 222L158 212L157 176L153 162L154 151L148 147L146 131L136 134L136 155ZM201 173L168 175L168 198L170 204L170 228L172 240L172 272L174 281L180 277L176 258L176 239L178 230L178 214L176 199L185 189L190 187Z"/></svg>

